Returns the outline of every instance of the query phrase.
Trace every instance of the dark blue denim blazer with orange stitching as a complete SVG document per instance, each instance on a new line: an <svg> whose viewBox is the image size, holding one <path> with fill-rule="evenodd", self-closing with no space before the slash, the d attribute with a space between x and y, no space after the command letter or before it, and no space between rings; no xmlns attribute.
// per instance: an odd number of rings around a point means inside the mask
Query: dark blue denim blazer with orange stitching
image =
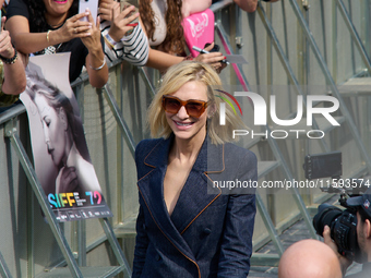
<svg viewBox="0 0 371 278"><path fill-rule="evenodd" d="M207 137L169 216L163 184L172 140L145 140L135 150L140 211L133 278L246 278L255 195L223 194L214 181L256 181L255 155Z"/></svg>

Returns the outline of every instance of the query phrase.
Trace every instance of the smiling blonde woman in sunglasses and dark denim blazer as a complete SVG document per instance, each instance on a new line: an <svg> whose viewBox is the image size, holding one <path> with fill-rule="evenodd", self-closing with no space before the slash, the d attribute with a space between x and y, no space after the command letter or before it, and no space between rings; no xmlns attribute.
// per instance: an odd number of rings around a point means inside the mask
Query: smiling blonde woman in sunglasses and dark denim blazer
<svg viewBox="0 0 371 278"><path fill-rule="evenodd" d="M250 269L255 195L214 181L256 182L255 155L230 143L244 126L226 107L219 125L216 71L183 61L171 67L147 114L154 137L135 149L140 211L133 278L239 277ZM241 194L242 193L242 194Z"/></svg>

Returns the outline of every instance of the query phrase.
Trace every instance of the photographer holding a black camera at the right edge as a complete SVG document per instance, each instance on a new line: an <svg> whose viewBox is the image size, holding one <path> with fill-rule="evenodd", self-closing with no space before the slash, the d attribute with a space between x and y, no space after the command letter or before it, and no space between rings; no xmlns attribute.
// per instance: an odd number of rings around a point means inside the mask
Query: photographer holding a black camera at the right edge
<svg viewBox="0 0 371 278"><path fill-rule="evenodd" d="M358 245L362 253L362 258L366 263L362 265L362 270L347 276L347 278L366 278L371 274L371 191L368 190L363 195L357 197L350 197L347 200L347 206L355 207L357 209L357 240ZM343 275L351 264L351 261L342 256L337 252L337 246L331 239L331 231L328 226L325 226L323 231L324 242L334 250L337 254L342 265Z"/></svg>

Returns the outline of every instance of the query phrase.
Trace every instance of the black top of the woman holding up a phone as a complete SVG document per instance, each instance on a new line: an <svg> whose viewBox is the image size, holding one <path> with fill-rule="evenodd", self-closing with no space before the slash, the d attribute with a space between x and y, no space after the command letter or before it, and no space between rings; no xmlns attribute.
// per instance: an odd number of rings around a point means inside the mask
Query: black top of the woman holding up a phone
<svg viewBox="0 0 371 278"><path fill-rule="evenodd" d="M10 1L7 10L7 19L10 19L14 15L21 15L24 16L29 21L29 10L28 5L26 4L25 0L12 0ZM60 26L61 27L61 26ZM52 28L51 26L48 26L47 29L44 32L47 32L49 29L57 29ZM35 33L34 29L29 29L31 33ZM100 37L100 44L104 49L105 47L105 40L103 37ZM56 46L49 46L46 49L43 49L41 51L38 51L34 55L49 55L49 53L56 53L56 52L71 52L71 59L70 59L70 82L75 81L79 75L81 74L81 71L83 69L83 65L85 64L86 56L88 55L87 48L84 46L82 40L80 38L73 38L70 41L58 44Z"/></svg>

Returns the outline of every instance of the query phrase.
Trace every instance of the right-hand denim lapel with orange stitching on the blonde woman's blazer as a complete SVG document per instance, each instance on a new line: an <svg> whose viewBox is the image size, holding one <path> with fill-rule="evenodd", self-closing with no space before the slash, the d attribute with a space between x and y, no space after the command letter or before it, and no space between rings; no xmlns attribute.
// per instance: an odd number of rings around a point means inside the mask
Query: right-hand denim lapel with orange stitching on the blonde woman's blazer
<svg viewBox="0 0 371 278"><path fill-rule="evenodd" d="M211 144L207 136L171 215L172 223L180 233L220 196L220 189L213 186L208 173L222 171L224 146Z"/></svg>

